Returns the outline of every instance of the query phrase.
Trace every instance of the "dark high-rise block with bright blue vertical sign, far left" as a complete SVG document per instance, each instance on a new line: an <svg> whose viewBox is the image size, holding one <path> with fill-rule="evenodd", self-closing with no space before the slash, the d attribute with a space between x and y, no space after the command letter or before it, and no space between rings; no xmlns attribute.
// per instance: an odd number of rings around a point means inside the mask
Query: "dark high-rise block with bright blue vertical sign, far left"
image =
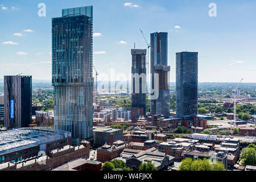
<svg viewBox="0 0 256 182"><path fill-rule="evenodd" d="M32 76L5 76L4 93L5 127L28 127L31 124Z"/></svg>

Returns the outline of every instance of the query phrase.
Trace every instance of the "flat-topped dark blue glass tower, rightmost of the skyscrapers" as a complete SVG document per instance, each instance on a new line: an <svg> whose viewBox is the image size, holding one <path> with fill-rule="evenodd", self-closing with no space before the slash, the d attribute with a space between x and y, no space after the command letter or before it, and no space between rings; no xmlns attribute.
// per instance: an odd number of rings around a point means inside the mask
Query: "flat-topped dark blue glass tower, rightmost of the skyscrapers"
<svg viewBox="0 0 256 182"><path fill-rule="evenodd" d="M198 52L176 53L176 117L197 115Z"/></svg>

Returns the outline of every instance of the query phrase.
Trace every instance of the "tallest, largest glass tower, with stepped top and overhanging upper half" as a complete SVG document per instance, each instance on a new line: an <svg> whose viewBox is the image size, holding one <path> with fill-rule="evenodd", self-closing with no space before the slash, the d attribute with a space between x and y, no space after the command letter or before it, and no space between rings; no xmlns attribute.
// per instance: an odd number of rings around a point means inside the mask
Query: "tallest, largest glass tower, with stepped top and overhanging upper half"
<svg viewBox="0 0 256 182"><path fill-rule="evenodd" d="M52 19L54 127L72 132L72 144L93 136L93 7L62 10Z"/></svg>

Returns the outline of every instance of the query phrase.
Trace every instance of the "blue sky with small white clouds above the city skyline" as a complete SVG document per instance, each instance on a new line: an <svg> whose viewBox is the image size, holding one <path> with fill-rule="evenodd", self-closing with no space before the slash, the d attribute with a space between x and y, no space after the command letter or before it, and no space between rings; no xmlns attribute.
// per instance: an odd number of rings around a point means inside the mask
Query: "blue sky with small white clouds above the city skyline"
<svg viewBox="0 0 256 182"><path fill-rule="evenodd" d="M38 4L46 4L46 17ZM217 17L210 17L210 3ZM93 62L98 73L131 72L130 49L146 48L139 31L168 32L170 80L175 53L199 52L200 82L256 82L255 0L0 0L0 78L32 75L51 80L51 18L61 9L93 5ZM126 6L125 6L126 5ZM17 34L18 33L18 34Z"/></svg>

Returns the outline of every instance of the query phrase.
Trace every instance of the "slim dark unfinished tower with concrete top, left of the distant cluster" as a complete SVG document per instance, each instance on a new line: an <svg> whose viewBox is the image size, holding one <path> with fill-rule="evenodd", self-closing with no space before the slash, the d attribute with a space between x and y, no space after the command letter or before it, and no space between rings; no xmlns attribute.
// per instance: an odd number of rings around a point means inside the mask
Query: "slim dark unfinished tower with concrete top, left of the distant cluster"
<svg viewBox="0 0 256 182"><path fill-rule="evenodd" d="M146 54L147 49L131 49L131 107L143 108L143 114L146 114Z"/></svg>

